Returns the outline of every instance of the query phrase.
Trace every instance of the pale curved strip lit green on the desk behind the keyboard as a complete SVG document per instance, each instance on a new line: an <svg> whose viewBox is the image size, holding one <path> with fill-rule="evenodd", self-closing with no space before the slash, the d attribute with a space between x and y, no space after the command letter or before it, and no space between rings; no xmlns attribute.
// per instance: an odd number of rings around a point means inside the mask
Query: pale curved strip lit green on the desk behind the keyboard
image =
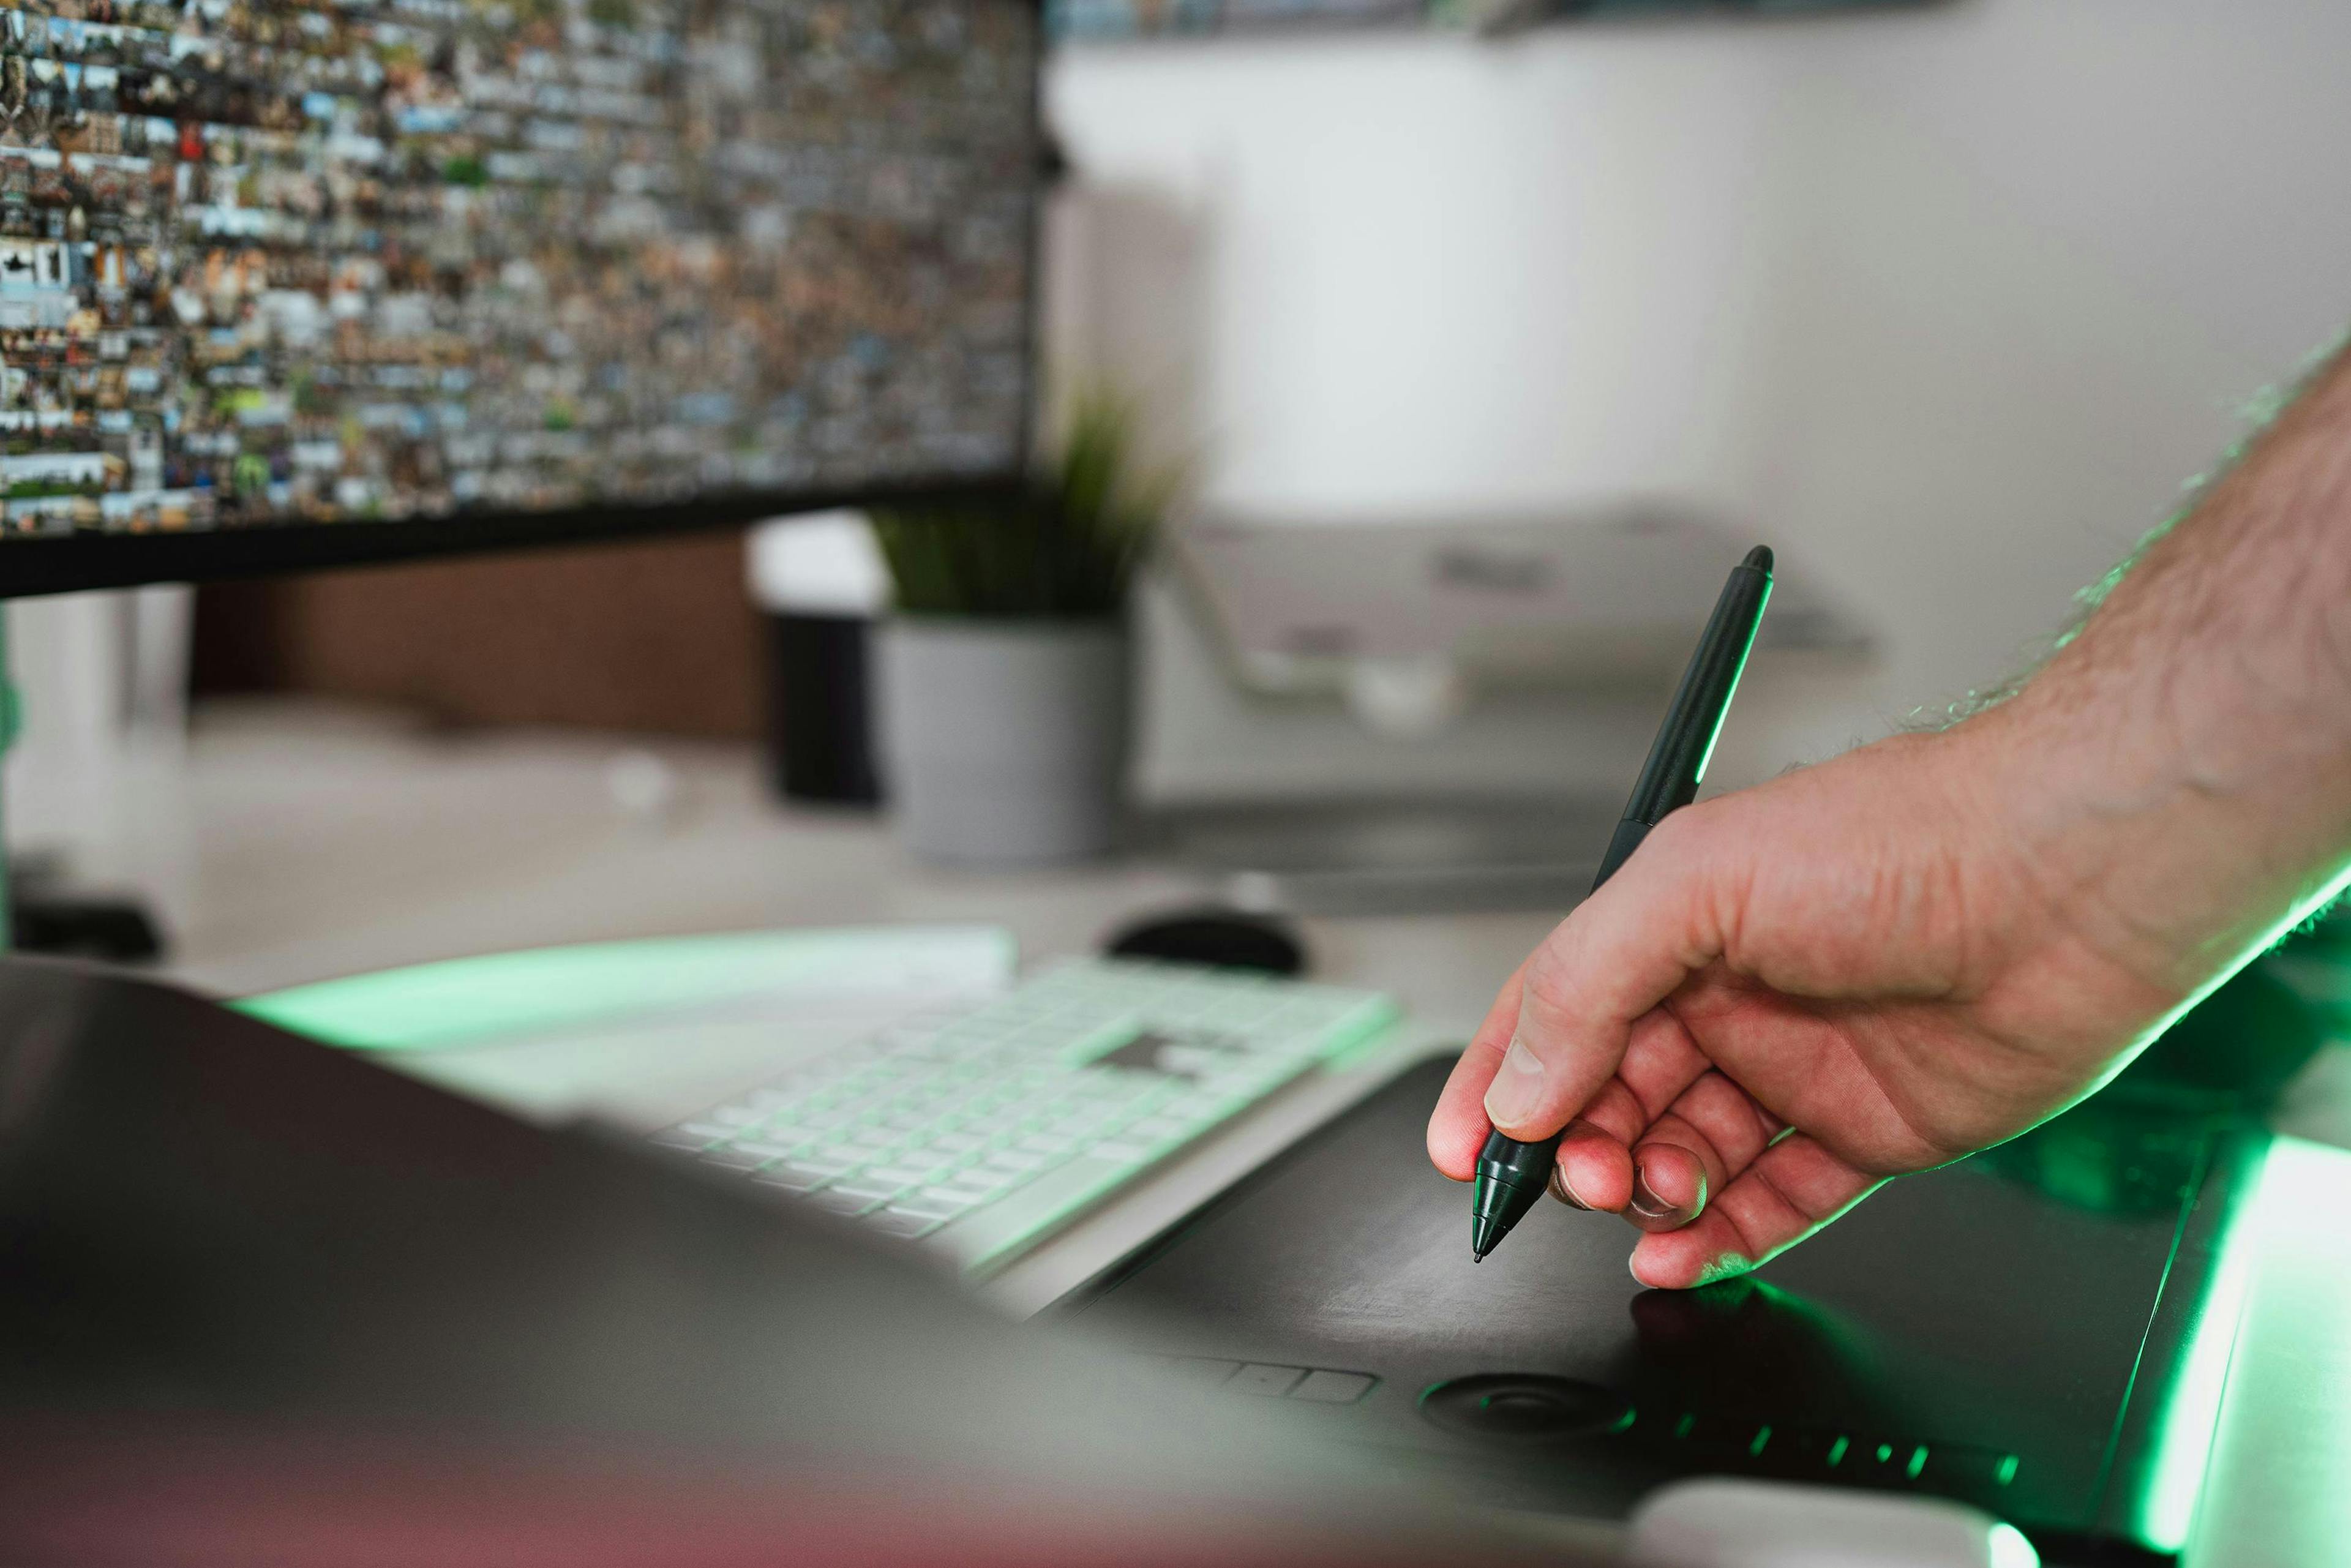
<svg viewBox="0 0 2351 1568"><path fill-rule="evenodd" d="M230 1006L336 1046L447 1051L778 990L872 990L936 954L940 931L842 926L531 947L320 980ZM1011 973L1011 933L964 931L999 943Z"/></svg>

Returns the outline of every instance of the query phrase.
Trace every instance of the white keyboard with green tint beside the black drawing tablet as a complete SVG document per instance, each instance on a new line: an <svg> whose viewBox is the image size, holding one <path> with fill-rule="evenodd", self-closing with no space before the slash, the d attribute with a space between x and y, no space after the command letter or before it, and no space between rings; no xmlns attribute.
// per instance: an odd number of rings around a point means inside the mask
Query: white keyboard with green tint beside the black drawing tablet
<svg viewBox="0 0 2351 1568"><path fill-rule="evenodd" d="M799 1063L654 1143L990 1269L1394 1018L1378 992L1081 959Z"/></svg>

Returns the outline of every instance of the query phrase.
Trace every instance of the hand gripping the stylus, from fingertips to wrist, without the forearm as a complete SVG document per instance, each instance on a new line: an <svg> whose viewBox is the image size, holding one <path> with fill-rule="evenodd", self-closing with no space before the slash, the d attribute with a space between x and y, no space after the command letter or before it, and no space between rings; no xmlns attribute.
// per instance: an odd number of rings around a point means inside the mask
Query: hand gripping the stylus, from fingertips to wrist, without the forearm
<svg viewBox="0 0 2351 1568"><path fill-rule="evenodd" d="M2017 806L2052 785L1998 719L1665 818L1502 987L1436 1168L1566 1126L1554 1194L1648 1232L1643 1284L1697 1286L2102 1084L2201 976Z"/></svg>

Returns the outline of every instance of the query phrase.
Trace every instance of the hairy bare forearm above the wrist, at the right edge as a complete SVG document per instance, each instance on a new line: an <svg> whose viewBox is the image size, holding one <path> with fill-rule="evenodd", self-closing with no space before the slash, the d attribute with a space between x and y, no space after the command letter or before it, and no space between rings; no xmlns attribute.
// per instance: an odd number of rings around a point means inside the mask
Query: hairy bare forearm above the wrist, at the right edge
<svg viewBox="0 0 2351 1568"><path fill-rule="evenodd" d="M2351 863L2351 355L1970 726L2043 896L2161 990L2325 898Z"/></svg>

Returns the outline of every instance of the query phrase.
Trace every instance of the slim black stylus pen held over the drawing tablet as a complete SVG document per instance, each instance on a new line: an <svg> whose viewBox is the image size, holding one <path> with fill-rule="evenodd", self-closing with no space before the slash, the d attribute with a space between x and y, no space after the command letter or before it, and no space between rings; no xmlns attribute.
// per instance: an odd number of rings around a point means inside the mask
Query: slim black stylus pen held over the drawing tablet
<svg viewBox="0 0 2351 1568"><path fill-rule="evenodd" d="M1641 849L1641 839L1665 820L1667 811L1679 811L1697 799L1697 780L1707 776L1714 736L1721 733L1730 696L1740 689L1740 672L1747 668L1747 649L1754 646L1756 625L1763 623L1766 599L1770 599L1770 550L1756 545L1723 583L1723 597L1714 602L1714 616L1697 639L1697 651L1690 654L1690 668L1681 672L1674 705L1665 710L1665 726L1657 729L1657 741L1648 748L1641 780L1625 804L1625 820L1608 839L1608 853L1601 856L1592 891L1599 891L1632 858L1632 851ZM1479 1262L1542 1197L1545 1182L1552 1180L1552 1164L1559 1159L1559 1138L1552 1133L1542 1143L1519 1143L1502 1133L1486 1135L1486 1147L1476 1157L1476 1190L1469 1197L1469 1248Z"/></svg>

